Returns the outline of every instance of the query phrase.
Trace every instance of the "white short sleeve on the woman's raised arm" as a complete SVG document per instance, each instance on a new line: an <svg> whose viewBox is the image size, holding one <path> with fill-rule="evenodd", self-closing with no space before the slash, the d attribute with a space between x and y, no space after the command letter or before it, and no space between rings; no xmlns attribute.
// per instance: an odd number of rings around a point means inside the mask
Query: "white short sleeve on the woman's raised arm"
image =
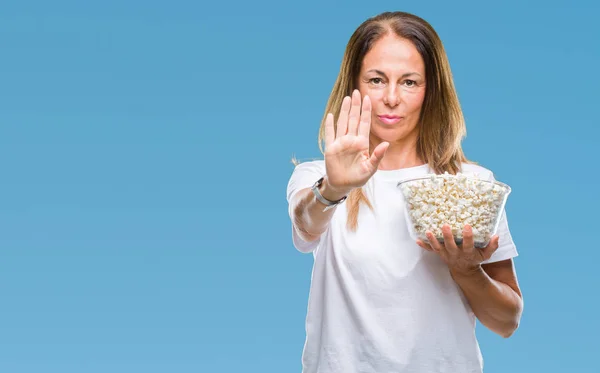
<svg viewBox="0 0 600 373"><path fill-rule="evenodd" d="M294 247L303 253L309 253L314 251L319 245L319 240L305 241L296 232L296 228L293 224L293 211L292 211L292 200L296 194L302 189L310 188L313 184L321 177L325 176L325 162L324 161L310 161L298 164L292 176L289 179L287 185L287 202L288 202L288 215L292 222L292 243Z"/></svg>

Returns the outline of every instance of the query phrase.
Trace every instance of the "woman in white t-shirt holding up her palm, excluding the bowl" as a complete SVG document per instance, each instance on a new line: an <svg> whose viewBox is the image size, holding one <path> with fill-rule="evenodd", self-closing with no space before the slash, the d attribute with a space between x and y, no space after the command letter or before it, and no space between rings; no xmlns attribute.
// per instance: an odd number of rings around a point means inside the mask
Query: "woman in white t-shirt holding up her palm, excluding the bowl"
<svg viewBox="0 0 600 373"><path fill-rule="evenodd" d="M475 249L414 242L397 182L428 173L478 174L447 57L423 19L402 12L352 35L321 124L324 160L296 166L287 189L293 243L314 267L305 373L482 372L475 318L503 337L523 301L503 211ZM431 243L431 244L430 244Z"/></svg>

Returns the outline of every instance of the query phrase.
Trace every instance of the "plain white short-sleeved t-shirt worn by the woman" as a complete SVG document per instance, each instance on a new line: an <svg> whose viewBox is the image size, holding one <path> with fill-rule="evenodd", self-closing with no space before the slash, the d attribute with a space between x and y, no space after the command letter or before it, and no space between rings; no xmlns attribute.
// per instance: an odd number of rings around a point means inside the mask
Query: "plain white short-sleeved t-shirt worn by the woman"
<svg viewBox="0 0 600 373"><path fill-rule="evenodd" d="M481 166L463 164L462 172L493 180ZM346 228L346 203L317 241L292 228L294 246L314 257L303 373L483 371L475 315L447 265L419 247L406 225L396 185L428 173L427 165L377 171L365 186L374 210L361 204L356 232ZM298 165L288 202L323 175L324 161ZM500 247L487 262L517 256L505 212L498 234Z"/></svg>

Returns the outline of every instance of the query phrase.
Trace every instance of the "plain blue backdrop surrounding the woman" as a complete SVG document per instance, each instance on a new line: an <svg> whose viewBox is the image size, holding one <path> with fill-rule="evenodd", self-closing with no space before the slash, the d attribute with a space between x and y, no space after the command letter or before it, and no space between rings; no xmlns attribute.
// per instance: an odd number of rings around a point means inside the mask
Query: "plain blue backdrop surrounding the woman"
<svg viewBox="0 0 600 373"><path fill-rule="evenodd" d="M525 313L478 326L486 372L597 369L599 9L568 3L2 2L0 372L299 372L290 158L385 10L437 29L513 188Z"/></svg>

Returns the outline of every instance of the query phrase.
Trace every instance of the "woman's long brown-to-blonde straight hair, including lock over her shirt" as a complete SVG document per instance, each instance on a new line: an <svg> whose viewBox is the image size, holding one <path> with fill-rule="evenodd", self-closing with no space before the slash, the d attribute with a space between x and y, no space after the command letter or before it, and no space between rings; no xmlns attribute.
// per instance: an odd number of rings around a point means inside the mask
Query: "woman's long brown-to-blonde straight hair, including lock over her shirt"
<svg viewBox="0 0 600 373"><path fill-rule="evenodd" d="M439 36L422 18L405 12L385 12L363 22L350 37L319 129L319 148L324 154L325 118L340 114L342 100L358 88L358 75L364 56L381 37L395 33L411 41L425 64L425 98L421 108L417 156L437 174L456 174L466 159L461 141L466 126L452 79L448 57ZM371 149L372 151L373 149ZM356 188L346 200L348 228L356 230L358 211L364 203L373 209L362 188Z"/></svg>

